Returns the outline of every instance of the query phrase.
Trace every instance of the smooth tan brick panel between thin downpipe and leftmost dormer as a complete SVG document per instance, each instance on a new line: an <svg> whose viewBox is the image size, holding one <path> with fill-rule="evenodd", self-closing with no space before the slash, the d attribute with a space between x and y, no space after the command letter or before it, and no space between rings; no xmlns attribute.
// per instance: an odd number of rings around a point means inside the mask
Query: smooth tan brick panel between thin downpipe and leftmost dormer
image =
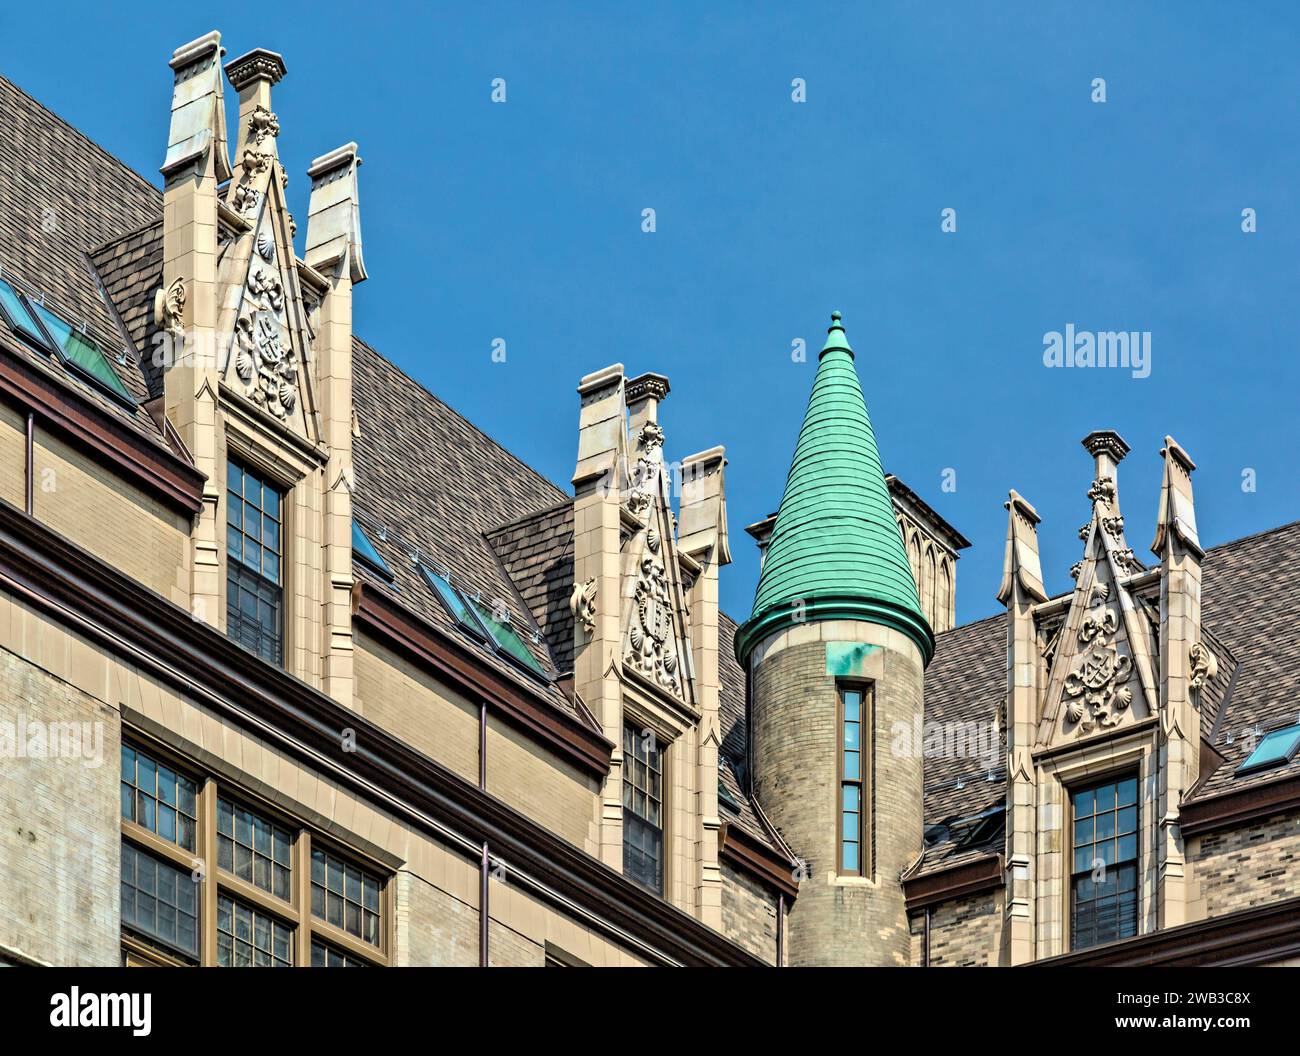
<svg viewBox="0 0 1300 1056"><path fill-rule="evenodd" d="M185 518L39 429L32 462L38 520L168 601L187 602Z"/></svg>

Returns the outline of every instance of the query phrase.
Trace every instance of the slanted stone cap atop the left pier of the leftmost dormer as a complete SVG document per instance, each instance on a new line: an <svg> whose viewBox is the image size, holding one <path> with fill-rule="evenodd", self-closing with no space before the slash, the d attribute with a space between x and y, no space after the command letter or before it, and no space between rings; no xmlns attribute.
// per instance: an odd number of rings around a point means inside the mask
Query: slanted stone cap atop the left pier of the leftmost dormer
<svg viewBox="0 0 1300 1056"><path fill-rule="evenodd" d="M221 88L221 34L213 30L172 52L172 126L162 176L203 161L212 152L217 182L230 178L226 107Z"/></svg>

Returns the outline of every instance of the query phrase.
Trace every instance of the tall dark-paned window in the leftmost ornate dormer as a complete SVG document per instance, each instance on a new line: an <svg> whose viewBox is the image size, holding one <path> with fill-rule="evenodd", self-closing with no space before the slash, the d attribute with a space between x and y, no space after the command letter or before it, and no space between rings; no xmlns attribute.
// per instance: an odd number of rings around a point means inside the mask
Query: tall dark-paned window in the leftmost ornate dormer
<svg viewBox="0 0 1300 1056"><path fill-rule="evenodd" d="M226 466L226 633L269 663L283 658L283 494Z"/></svg>

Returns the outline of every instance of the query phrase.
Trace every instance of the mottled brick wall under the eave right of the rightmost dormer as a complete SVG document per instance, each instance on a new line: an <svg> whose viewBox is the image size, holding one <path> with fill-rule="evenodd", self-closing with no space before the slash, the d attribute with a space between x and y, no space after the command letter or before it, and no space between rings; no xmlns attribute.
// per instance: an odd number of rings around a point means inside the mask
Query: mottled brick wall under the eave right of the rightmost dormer
<svg viewBox="0 0 1300 1056"><path fill-rule="evenodd" d="M1188 840L1187 860L1209 917L1294 899L1300 895L1300 812L1197 836Z"/></svg>

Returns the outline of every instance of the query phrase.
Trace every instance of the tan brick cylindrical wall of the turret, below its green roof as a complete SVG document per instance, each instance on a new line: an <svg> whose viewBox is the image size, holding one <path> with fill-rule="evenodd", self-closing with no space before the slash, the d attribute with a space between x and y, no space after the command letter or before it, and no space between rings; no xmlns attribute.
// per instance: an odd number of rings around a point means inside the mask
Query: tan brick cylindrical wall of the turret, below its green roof
<svg viewBox="0 0 1300 1056"><path fill-rule="evenodd" d="M875 685L874 875L838 877L838 731L823 635L878 642L863 678ZM922 758L893 754L896 723L922 707L922 666L901 635L868 623L796 627L760 646L754 671L754 775L759 802L810 875L788 918L788 960L906 965L907 917L898 877L920 852ZM870 795L870 793L868 793Z"/></svg>

